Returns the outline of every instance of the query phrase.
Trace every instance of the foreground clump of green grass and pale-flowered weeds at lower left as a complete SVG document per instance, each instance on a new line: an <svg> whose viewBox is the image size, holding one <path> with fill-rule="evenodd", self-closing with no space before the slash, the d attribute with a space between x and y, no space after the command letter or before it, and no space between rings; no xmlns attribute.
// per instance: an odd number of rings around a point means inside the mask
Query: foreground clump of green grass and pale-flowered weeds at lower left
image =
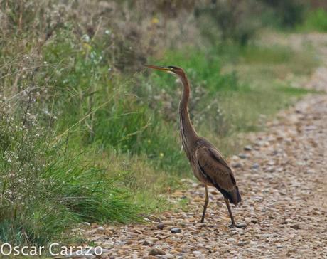
<svg viewBox="0 0 327 259"><path fill-rule="evenodd" d="M72 223L137 220L117 177L92 166L87 154L50 144L35 118L23 125L1 108L0 132L7 139L0 150L2 242L44 245Z"/></svg>

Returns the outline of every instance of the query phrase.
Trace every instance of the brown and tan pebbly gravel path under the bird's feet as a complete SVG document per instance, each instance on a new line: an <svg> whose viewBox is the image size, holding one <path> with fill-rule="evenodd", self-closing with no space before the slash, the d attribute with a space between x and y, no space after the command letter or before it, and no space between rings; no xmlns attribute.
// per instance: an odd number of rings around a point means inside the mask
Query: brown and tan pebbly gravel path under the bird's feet
<svg viewBox="0 0 327 259"><path fill-rule="evenodd" d="M327 90L322 69L309 85ZM171 197L188 199L187 211L146 225L92 226L84 235L107 248L102 258L327 258L327 95L306 97L267 128L230 158L242 194L232 211L247 228L227 227L223 197L211 187L199 223L205 192L191 182Z"/></svg>

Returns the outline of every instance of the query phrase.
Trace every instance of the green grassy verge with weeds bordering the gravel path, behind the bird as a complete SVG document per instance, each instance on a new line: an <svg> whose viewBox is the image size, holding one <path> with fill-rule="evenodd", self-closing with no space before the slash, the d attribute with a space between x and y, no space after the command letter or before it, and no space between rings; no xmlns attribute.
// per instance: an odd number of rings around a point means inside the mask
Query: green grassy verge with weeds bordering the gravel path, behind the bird
<svg viewBox="0 0 327 259"><path fill-rule="evenodd" d="M117 56L129 56L112 48L118 40L87 38L72 20L43 44L43 23L28 19L22 32L18 15L10 22L0 39L0 242L46 245L76 223L136 222L171 208L166 195L191 176L176 78L119 70ZM149 59L186 69L195 128L224 154L240 150L240 133L262 129L263 115L305 95L285 78L316 65L305 51L258 45L170 48Z"/></svg>

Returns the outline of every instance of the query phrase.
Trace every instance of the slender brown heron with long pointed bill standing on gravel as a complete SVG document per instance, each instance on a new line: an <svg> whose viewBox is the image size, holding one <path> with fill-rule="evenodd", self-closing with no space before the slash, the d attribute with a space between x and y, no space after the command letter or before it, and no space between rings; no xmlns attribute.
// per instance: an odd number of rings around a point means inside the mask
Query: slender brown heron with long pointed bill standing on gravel
<svg viewBox="0 0 327 259"><path fill-rule="evenodd" d="M205 186L205 203L201 223L204 222L209 202L208 186L213 186L223 194L230 220L232 221L230 228L244 228L245 224L235 223L232 210L230 209L230 203L236 206L242 201L232 168L228 165L223 154L207 139L200 137L192 125L188 112L191 87L183 68L173 65L168 67L159 65L145 66L146 68L172 73L180 79L183 85L183 93L178 108L181 142L194 176Z"/></svg>

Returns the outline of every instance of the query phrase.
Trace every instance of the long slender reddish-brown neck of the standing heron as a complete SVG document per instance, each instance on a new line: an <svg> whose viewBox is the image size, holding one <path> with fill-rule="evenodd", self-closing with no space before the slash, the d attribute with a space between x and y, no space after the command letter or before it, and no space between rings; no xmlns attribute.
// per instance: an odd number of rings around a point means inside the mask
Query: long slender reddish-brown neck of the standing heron
<svg viewBox="0 0 327 259"><path fill-rule="evenodd" d="M183 84L183 95L179 102L179 120L181 123L181 139L184 149L190 149L191 144L198 138L198 134L193 128L190 115L188 114L188 99L190 97L190 84L186 75L180 77Z"/></svg>

